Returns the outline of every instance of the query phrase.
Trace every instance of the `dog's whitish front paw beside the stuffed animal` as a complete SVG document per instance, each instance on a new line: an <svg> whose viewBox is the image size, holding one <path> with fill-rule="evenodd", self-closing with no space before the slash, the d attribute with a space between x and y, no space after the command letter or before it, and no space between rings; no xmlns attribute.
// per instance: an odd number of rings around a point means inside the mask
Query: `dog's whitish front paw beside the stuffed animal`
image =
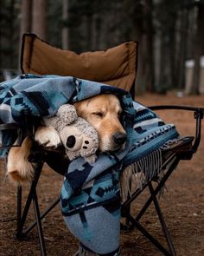
<svg viewBox="0 0 204 256"><path fill-rule="evenodd" d="M40 127L36 130L35 141L48 148L61 145L61 137L53 127Z"/></svg>

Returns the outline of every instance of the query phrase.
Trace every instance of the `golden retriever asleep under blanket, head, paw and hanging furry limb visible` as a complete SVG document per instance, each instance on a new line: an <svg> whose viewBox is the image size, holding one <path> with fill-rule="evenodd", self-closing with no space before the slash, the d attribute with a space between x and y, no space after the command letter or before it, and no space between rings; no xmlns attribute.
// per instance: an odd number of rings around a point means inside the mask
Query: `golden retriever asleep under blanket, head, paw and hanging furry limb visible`
<svg viewBox="0 0 204 256"><path fill-rule="evenodd" d="M98 132L101 152L124 149L126 133L119 121L122 108L117 96L112 94L93 96L74 103L74 107L77 114L88 121ZM61 144L58 132L52 127L38 128L35 141L53 148ZM31 141L26 138L21 147L10 148L7 173L11 180L17 182L32 180L34 166L28 160L31 146Z"/></svg>

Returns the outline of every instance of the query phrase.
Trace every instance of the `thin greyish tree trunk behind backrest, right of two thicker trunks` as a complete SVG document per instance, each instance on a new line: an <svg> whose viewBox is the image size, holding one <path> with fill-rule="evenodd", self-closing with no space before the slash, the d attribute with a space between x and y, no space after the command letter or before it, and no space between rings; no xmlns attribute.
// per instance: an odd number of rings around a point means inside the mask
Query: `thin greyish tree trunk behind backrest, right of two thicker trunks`
<svg viewBox="0 0 204 256"><path fill-rule="evenodd" d="M67 22L68 20L68 0L63 0L62 2L62 20L63 22ZM68 49L69 48L69 30L68 27L63 24L62 28L62 49Z"/></svg>

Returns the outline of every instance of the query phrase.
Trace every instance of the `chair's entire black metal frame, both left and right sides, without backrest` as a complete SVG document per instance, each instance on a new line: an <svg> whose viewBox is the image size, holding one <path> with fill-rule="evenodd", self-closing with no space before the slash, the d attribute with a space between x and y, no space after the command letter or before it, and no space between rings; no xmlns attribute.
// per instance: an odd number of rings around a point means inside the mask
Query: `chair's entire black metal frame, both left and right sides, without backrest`
<svg viewBox="0 0 204 256"><path fill-rule="evenodd" d="M131 195L128 200L126 200L122 205L122 217L126 219L126 226L124 228L130 229L132 227L136 227L143 235L150 240L150 242L156 246L156 248L162 252L164 255L176 255L175 248L170 237L169 230L165 223L163 213L161 207L159 206L158 200L156 195L161 191L165 182L169 179L170 174L174 171L175 167L178 165L179 161L181 160L190 160L193 154L197 151L197 148L201 141L201 120L203 119L204 115L204 108L194 108L194 107L185 107L185 106L152 106L150 107L152 110L163 110L163 109L180 109L180 110L187 110L194 112L194 119L195 119L195 135L184 137L182 141L182 145L175 146L175 148L170 149L171 154L169 157L163 161L163 169L168 166L168 170L163 175L163 179L160 180L157 184L156 188L153 188L152 182L149 181L146 183L143 188L137 188L137 190ZM29 122L30 123L30 122ZM16 124L10 125L1 125L0 129L8 129L8 128L19 128ZM31 135L32 136L32 135ZM194 143L193 143L194 141ZM52 151L51 151L52 153ZM45 148L38 148L36 152L33 153L34 155L31 157L31 161L35 161L38 163L37 167L35 168L35 179L31 182L29 195L27 197L27 201L25 206L22 210L22 186L17 187L17 219L16 219L16 233L15 237L17 240L23 240L26 238L27 234L36 226L39 242L41 246L41 255L46 255L46 246L45 240L43 237L41 220L59 203L60 198L55 200L51 206L44 213L40 213L40 208L38 204L38 197L36 193L36 187L41 175L41 169L43 166L43 162L46 161L47 154L49 154L48 149ZM55 153L54 153L55 154ZM62 154L61 150L58 154ZM63 174L63 171L59 171L59 174ZM149 188L150 197L143 205L141 211L137 214L136 217L132 216L131 214L131 203L133 200L137 200L137 196L143 192L144 189ZM35 222L32 223L29 227L25 228L25 223L27 220L27 216L29 213L29 208L31 203L33 202L34 211L35 211ZM166 249L158 240L156 240L139 222L142 218L143 214L146 212L147 208L150 207L151 203L154 203L156 214L158 219L160 220L161 226L163 228L163 234L165 239L167 240L167 244L169 250Z"/></svg>

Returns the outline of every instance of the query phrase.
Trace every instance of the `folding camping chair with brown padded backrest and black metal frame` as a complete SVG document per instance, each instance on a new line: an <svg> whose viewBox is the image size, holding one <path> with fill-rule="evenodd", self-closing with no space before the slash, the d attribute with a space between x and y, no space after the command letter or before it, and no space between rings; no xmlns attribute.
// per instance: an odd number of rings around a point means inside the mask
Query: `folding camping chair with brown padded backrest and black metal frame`
<svg viewBox="0 0 204 256"><path fill-rule="evenodd" d="M22 38L22 56L21 56L21 68L22 73L33 73L36 75L69 75L75 76L87 80L103 82L112 86L128 90L131 92L132 97L135 95L135 79L137 75L137 43L127 42L119 45L118 47L108 49L106 51L96 51L83 53L77 55L68 50L56 49L50 46L48 43L41 41L40 38L33 34L25 34ZM100 72L99 72L100 71ZM143 186L138 187L135 191L129 194L128 199L123 202L122 216L126 220L124 228L131 229L133 226L143 233L164 255L175 255L175 248L169 235L169 231L163 218L163 213L159 207L159 203L156 199L156 195L161 192L165 181L169 179L170 174L174 171L175 167L181 160L190 160L192 155L196 152L200 140L201 140L201 119L203 118L203 108L191 108L180 106L157 106L150 107L153 110L176 108L189 110L194 112L194 118L196 121L195 128L196 133L194 136L183 137L176 143L170 145L169 150L166 150L163 154L163 170L165 173L162 178L158 178L157 175L151 181L146 182ZM28 121L28 123L30 123ZM8 128L8 127L7 127ZM10 127L15 128L15 127ZM32 129L29 128L30 132ZM193 143L194 141L194 143ZM16 238L22 239L29 231L37 226L41 255L46 255L45 242L42 233L41 220L58 204L59 199L48 207L45 213L40 213L36 186L41 175L41 167L44 161L48 161L54 171L64 174L65 168L63 164L59 166L56 162L50 162L52 156L50 154L58 154L61 157L61 162L64 162L61 156L61 151L48 151L48 149L36 150L32 154L32 161L37 161L38 167L35 169L35 179L31 182L29 196L25 207L22 211L22 187L18 187L17 191L17 226L16 226ZM158 183L156 188L153 188L152 182ZM131 186L131 179L130 179ZM142 210L135 217L131 213L131 203L137 199L137 196L143 192L145 188L150 190L150 198L142 207ZM29 212L29 207L33 201L35 207L35 223L24 229L24 225ZM164 248L159 241L157 241L139 222L143 213L150 207L151 202L154 203L156 213L163 227L163 233L167 240L169 249Z"/></svg>

